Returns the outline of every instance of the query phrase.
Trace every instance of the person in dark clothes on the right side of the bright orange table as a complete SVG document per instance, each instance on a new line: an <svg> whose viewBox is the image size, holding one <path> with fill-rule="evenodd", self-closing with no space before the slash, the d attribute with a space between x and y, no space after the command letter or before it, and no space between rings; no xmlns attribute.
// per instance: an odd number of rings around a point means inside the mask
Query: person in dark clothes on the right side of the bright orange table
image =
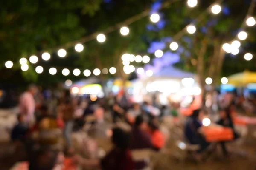
<svg viewBox="0 0 256 170"><path fill-rule="evenodd" d="M219 113L220 113L221 119L218 120L217 124L224 127L231 128L233 130L234 139L237 139L239 135L234 130L233 120L229 112L230 110L228 108L220 110ZM221 142L220 144L221 144L223 155L227 156L228 152L227 152L225 142Z"/></svg>

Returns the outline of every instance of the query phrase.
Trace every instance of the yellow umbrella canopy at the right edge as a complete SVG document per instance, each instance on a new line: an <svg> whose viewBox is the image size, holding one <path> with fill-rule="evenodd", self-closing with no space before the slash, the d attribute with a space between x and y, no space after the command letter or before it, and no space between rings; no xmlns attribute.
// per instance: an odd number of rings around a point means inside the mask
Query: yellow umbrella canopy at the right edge
<svg viewBox="0 0 256 170"><path fill-rule="evenodd" d="M256 72L244 71L242 73L233 74L229 77L228 84L234 86L244 86L249 83L256 83Z"/></svg>

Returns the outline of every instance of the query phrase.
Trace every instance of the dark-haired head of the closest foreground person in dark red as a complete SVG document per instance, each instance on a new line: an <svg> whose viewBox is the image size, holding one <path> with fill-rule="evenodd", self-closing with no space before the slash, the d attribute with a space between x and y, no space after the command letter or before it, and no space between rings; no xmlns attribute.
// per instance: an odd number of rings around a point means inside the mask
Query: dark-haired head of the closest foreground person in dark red
<svg viewBox="0 0 256 170"><path fill-rule="evenodd" d="M130 147L131 135L128 131L123 130L120 127L115 127L112 132L112 142L116 147L121 149L127 149Z"/></svg>

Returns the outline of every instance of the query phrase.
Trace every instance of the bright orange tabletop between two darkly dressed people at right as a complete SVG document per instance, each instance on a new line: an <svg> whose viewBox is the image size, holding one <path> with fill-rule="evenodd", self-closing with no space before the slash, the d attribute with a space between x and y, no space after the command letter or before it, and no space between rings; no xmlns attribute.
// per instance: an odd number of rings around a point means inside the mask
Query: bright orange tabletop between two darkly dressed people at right
<svg viewBox="0 0 256 170"><path fill-rule="evenodd" d="M207 142L222 142L234 139L233 130L228 127L203 127L203 133Z"/></svg>

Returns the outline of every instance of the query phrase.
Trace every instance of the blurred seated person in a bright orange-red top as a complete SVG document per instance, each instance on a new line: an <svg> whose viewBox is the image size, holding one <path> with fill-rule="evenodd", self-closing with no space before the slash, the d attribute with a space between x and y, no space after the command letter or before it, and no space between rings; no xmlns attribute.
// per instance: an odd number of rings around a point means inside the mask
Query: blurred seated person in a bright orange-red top
<svg viewBox="0 0 256 170"><path fill-rule="evenodd" d="M155 121L151 121L148 124L148 132L151 136L151 141L154 145L154 150L160 150L161 148L163 148L164 144L165 144L165 137L163 135L163 133L159 130L159 125L157 122Z"/></svg>

